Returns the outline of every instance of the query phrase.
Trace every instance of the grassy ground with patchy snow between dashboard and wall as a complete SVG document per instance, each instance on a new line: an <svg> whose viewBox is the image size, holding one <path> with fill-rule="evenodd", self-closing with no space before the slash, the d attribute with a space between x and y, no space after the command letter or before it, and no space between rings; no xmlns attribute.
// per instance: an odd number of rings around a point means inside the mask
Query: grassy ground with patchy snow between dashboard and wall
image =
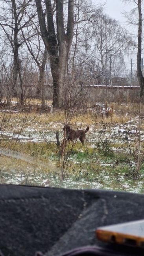
<svg viewBox="0 0 144 256"><path fill-rule="evenodd" d="M144 192L144 161L137 173L138 124L140 152L144 147L144 120L134 104L95 104L76 111L73 128L85 129L85 145L76 141L65 179L61 180L56 131L63 141L61 110L23 111L1 108L0 183L34 186L114 189ZM142 111L141 111L142 113ZM71 143L70 146L71 147ZM140 156L140 157L141 157Z"/></svg>

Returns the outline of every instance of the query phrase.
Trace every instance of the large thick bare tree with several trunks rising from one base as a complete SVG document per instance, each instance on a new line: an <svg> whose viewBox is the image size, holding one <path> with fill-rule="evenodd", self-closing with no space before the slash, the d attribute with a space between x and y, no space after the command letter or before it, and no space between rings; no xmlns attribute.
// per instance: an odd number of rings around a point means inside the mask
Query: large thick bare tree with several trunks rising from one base
<svg viewBox="0 0 144 256"><path fill-rule="evenodd" d="M42 8L42 1L35 0L39 16L39 24L44 44L47 47L50 67L53 77L54 95L53 106L59 107L61 102L61 86L65 80L66 67L68 63L70 46L72 44L74 30L74 0L68 0L68 14L66 28L64 25L63 1L56 0L52 6L51 0L46 0L46 28L45 15ZM54 8L56 6L56 32L54 25Z"/></svg>

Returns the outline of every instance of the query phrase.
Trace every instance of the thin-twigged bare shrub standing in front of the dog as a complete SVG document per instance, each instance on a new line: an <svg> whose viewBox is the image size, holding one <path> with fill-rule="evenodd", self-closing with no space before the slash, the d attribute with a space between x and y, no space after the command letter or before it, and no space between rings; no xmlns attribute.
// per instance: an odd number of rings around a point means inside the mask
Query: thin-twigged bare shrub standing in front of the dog
<svg viewBox="0 0 144 256"><path fill-rule="evenodd" d="M61 101L63 103L64 109L64 122L63 125L70 125L72 118L78 113L85 115L86 107L87 107L87 92L82 91L81 87L76 86L75 78L67 79L65 84L63 85L63 97L61 97ZM81 121L81 128L83 123L83 119ZM60 151L59 151L59 166L61 169L61 180L65 178L66 171L68 169L68 163L70 161L71 152L76 144L76 141L67 141L66 138L66 130L64 131L63 141L61 143Z"/></svg>

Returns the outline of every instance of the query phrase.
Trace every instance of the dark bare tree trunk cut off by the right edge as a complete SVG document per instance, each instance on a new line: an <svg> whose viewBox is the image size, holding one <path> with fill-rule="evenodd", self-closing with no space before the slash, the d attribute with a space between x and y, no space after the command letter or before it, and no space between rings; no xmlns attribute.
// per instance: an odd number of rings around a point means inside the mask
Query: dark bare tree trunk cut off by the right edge
<svg viewBox="0 0 144 256"><path fill-rule="evenodd" d="M137 51L137 77L140 85L140 100L144 94L144 77L141 70L141 55L142 55L142 8L141 0L138 0L138 51Z"/></svg>

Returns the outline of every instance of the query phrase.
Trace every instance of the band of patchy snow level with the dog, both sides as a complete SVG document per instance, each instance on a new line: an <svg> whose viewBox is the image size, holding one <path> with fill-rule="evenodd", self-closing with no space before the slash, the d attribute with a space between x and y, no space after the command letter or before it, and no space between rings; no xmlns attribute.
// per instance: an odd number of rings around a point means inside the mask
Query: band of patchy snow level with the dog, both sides
<svg viewBox="0 0 144 256"><path fill-rule="evenodd" d="M96 144L99 140L109 140L109 143L120 143L124 144L131 143L135 141L136 134L136 125L138 124L137 120L135 125L127 122L126 124L119 124L115 127L105 127L97 129L94 124L90 125L90 130L86 134L86 142L89 142L90 147L96 147ZM76 125L80 125L77 123ZM18 139L19 141L25 143L27 141L31 142L53 142L56 143L56 131L59 130L59 139L63 139L63 124L60 122L50 122L45 126L30 124L27 127L24 127L22 132L18 134L18 129L15 131L5 130L0 132L0 135L9 137L9 139ZM144 132L141 131L141 141L144 141ZM114 150L114 148L113 148ZM116 149L117 151L118 149Z"/></svg>

